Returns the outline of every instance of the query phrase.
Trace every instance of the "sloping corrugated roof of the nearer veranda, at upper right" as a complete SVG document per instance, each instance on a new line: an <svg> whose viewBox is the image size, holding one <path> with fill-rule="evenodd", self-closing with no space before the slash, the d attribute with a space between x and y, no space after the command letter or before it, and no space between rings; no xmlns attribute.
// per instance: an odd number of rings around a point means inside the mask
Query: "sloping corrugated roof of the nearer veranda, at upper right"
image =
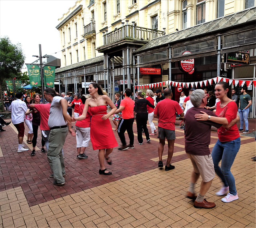
<svg viewBox="0 0 256 228"><path fill-rule="evenodd" d="M170 44L172 42L177 42L187 38L192 38L199 35L206 35L211 32L220 31L223 29L231 28L245 22L256 21L256 7L242 10L222 18L217 18L215 20L205 22L203 24L198 24L196 26L186 28L177 32L167 34L150 40L147 44L136 50L136 52L142 52L150 48L156 48L156 46L163 46Z"/></svg>

